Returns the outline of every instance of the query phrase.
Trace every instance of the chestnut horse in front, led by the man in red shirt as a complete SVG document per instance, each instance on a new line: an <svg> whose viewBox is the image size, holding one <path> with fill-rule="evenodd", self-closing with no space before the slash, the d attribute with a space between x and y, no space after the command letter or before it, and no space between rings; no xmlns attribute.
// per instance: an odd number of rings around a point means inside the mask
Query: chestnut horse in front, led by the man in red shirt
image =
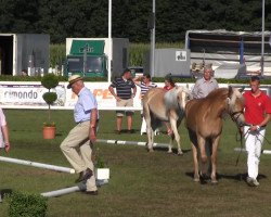
<svg viewBox="0 0 271 217"><path fill-rule="evenodd" d="M198 154L202 158L202 175L207 174L208 157L206 154L206 142L211 145L211 183L217 183L217 151L222 132L223 116L228 113L232 120L241 128L245 125L243 114L244 99L242 93L229 86L210 92L204 99L193 99L185 105L186 128L192 143L194 161L194 181L199 181Z"/></svg>

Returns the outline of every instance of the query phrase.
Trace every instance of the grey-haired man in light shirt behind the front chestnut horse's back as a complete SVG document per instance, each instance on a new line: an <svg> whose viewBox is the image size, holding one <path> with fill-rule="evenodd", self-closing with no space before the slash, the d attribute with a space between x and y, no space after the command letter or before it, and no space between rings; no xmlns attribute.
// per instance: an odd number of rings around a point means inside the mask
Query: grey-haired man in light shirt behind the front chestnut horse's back
<svg viewBox="0 0 271 217"><path fill-rule="evenodd" d="M218 89L218 82L212 77L211 65L206 65L204 67L203 78L196 80L195 86L192 90L192 95L194 99L206 98L212 90Z"/></svg>

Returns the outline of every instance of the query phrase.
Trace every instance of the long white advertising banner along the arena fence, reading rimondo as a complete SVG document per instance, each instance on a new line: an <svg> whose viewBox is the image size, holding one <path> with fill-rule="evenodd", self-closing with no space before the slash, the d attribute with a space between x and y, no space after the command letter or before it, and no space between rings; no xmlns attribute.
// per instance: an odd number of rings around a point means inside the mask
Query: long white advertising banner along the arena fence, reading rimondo
<svg viewBox="0 0 271 217"><path fill-rule="evenodd" d="M194 86L194 84L177 85L182 87L189 86L190 89ZM116 110L116 100L108 90L108 82L85 82L85 86L90 89L96 98L99 110ZM157 86L163 88L164 82L157 82ZM228 85L221 84L219 87L228 87ZM233 87L245 87L249 89L248 85L233 85ZM140 88L137 88L137 95L133 99L134 111L142 110ZM271 86L262 85L261 89L271 95ZM48 108L48 105L42 99L42 94L47 91L40 82L0 81L0 106L2 108ZM57 94L57 100L52 105L53 110L74 110L77 95L73 93L72 89L67 89L67 82L60 82L52 91Z"/></svg>

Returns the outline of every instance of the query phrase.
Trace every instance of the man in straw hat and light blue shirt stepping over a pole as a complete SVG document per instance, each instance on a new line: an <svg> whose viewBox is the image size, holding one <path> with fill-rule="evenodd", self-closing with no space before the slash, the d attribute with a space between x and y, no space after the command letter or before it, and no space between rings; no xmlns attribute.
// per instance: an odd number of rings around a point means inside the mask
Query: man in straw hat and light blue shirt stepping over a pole
<svg viewBox="0 0 271 217"><path fill-rule="evenodd" d="M78 95L74 110L77 125L69 131L61 143L61 150L79 174L77 182L87 181L87 194L96 195L94 165L91 159L91 145L96 140L96 125L99 119L98 104L91 91L85 87L82 77L73 75L68 78L67 88Z"/></svg>

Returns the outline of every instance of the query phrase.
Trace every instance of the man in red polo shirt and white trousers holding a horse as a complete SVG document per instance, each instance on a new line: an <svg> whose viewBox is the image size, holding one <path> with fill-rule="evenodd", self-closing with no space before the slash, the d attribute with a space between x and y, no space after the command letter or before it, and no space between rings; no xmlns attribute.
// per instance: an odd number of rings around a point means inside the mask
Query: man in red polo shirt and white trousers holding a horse
<svg viewBox="0 0 271 217"><path fill-rule="evenodd" d="M247 151L247 183L259 186L257 180L261 145L266 133L266 126L271 118L271 100L259 89L258 76L250 78L250 90L243 95L245 98L245 119L249 126L244 127Z"/></svg>

